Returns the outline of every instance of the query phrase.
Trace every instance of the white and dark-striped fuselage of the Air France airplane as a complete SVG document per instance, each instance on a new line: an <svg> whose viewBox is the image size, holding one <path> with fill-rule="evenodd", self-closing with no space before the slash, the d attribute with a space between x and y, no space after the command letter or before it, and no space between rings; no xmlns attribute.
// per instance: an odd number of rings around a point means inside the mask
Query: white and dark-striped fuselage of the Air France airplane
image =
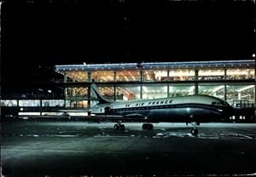
<svg viewBox="0 0 256 177"><path fill-rule="evenodd" d="M206 123L230 117L232 107L224 100L207 95L130 100L94 106L91 113L121 115L123 117L147 117L150 123Z"/></svg>

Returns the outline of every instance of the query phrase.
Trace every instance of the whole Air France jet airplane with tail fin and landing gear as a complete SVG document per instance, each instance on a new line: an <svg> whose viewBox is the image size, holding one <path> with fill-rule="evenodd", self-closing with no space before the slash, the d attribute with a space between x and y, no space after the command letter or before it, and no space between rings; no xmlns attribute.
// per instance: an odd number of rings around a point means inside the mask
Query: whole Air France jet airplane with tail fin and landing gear
<svg viewBox="0 0 256 177"><path fill-rule="evenodd" d="M90 85L92 98L97 100L90 112L116 120L115 129L125 129L124 121L143 122L143 129L153 129L152 123L192 123L191 134L198 134L196 125L220 122L232 116L233 108L224 100L195 94L154 100L108 100L100 94L96 84Z"/></svg>

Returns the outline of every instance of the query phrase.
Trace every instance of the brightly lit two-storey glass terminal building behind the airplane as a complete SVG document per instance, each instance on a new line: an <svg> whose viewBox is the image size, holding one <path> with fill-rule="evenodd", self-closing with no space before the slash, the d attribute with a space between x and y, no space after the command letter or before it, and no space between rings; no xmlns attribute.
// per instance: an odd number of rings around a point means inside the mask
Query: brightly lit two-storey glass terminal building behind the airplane
<svg viewBox="0 0 256 177"><path fill-rule="evenodd" d="M66 107L87 107L90 83L111 100L207 94L255 106L255 61L191 61L55 66L63 75Z"/></svg>

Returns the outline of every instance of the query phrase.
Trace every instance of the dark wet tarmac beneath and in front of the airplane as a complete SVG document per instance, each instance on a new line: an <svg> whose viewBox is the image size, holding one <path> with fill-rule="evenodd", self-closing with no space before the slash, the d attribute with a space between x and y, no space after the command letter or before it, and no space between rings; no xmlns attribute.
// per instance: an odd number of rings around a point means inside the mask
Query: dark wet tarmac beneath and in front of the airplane
<svg viewBox="0 0 256 177"><path fill-rule="evenodd" d="M5 176L256 174L255 123L2 123Z"/></svg>

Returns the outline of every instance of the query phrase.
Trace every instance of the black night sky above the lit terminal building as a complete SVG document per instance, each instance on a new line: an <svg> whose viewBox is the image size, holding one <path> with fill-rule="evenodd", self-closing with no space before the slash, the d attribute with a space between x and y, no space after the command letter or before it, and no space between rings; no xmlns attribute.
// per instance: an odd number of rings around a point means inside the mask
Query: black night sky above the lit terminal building
<svg viewBox="0 0 256 177"><path fill-rule="evenodd" d="M253 1L18 2L2 5L3 88L30 87L38 66L247 60L255 50Z"/></svg>

